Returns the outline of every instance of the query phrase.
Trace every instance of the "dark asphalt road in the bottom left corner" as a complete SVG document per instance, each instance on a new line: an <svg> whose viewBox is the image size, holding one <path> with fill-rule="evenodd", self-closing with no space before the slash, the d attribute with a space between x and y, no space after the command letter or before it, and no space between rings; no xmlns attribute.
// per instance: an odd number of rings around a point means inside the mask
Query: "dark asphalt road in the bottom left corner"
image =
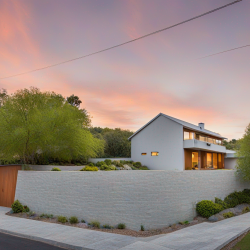
<svg viewBox="0 0 250 250"><path fill-rule="evenodd" d="M46 243L0 233L0 250L65 250ZM87 248L86 248L87 249Z"/></svg>

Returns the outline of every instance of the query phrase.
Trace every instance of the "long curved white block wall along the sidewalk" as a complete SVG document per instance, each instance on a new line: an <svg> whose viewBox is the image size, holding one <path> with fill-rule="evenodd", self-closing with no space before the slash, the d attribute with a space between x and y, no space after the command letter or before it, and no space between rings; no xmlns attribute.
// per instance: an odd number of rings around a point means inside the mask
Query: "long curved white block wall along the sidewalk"
<svg viewBox="0 0 250 250"><path fill-rule="evenodd" d="M192 220L195 203L250 188L233 170L19 171L16 199L32 211L140 230Z"/></svg>

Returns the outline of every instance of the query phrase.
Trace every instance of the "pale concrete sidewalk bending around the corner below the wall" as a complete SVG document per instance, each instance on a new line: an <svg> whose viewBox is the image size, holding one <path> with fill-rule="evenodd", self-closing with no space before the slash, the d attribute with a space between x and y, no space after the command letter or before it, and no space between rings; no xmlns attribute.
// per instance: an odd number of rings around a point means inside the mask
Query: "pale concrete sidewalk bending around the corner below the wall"
<svg viewBox="0 0 250 250"><path fill-rule="evenodd" d="M0 232L69 249L96 250L215 250L250 230L250 213L202 223L173 233L147 238L81 229L5 215L0 207Z"/></svg>

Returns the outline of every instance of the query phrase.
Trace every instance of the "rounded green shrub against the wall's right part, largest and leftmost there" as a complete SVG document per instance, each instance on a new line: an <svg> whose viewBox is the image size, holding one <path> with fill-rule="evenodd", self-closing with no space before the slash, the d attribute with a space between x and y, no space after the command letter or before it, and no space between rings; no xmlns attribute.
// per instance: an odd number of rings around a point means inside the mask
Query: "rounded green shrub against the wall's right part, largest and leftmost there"
<svg viewBox="0 0 250 250"><path fill-rule="evenodd" d="M199 215L205 218L217 214L223 210L222 205L216 204L212 201L203 200L197 203L196 211Z"/></svg>

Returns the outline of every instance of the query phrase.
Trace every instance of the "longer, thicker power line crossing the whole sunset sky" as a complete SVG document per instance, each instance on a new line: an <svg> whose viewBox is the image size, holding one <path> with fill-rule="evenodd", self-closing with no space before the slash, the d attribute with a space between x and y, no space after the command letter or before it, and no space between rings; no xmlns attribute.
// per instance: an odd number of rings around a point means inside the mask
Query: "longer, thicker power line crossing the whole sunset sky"
<svg viewBox="0 0 250 250"><path fill-rule="evenodd" d="M197 18L206 16L206 15L208 15L208 14L211 14L211 13L215 12L215 11L218 11L218 10L224 9L224 8L226 8L226 7L229 7L229 6L231 6L231 5L235 4L235 3L238 3L238 2L240 2L240 1L242 1L242 0L236 0L236 1L232 2L232 3L223 5L223 6L219 7L219 8L213 9L213 10L210 10L210 11L208 11L208 12L206 12L206 13L203 13L203 14L201 14L201 15L195 16L195 17L190 18L190 19L188 19L188 20L186 20L186 21L183 21L183 22L174 24L174 25L169 26L169 27L164 28L164 29L157 30L157 31L155 31L155 32L149 33L149 34L144 35L144 36L140 36L140 37L135 38L135 39L133 39L133 40L130 40L130 41L127 41L127 42L124 42L124 43L120 43L120 44L118 44L118 45L115 45L115 46L112 46L112 47L109 47L109 48L106 48L106 49L103 49L103 50L99 50L99 51L93 52L93 53L88 54L88 55L76 57L76 58L73 58L73 59L70 59L70 60L66 60L66 61L63 61L63 62L51 64L51 65L48 65L48 66L45 66L45 67L42 67L42 68L33 69L33 70L26 71L26 72L23 72L23 73L19 73L19 74L15 74L15 75L10 75L10 76L6 76L6 77L2 77L2 78L0 78L0 80L7 79L7 78L12 78L12 77L16 77L16 76L20 76L20 75L25 75L25 74L32 73L32 72L35 72L35 71L40 71L40 70L44 70L44 69L47 69L47 68L55 67L55 66L58 66L58 65L61 65L61 64L65 64L65 63L69 63L69 62L72 62L72 61L76 61L76 60L79 60L79 59L82 59L82 58L85 58L85 57L93 56L93 55L96 55L96 54L105 52L105 51L107 51L107 50L111 50L111 49L114 49L114 48L123 46L123 45L125 45L125 44L135 42L135 41L137 41L137 40L146 38L146 37L148 37L148 36L152 36L152 35L158 34L158 33L160 33L160 32L163 32L163 31L165 31L165 30L174 28L174 27L179 26L179 25L181 25L181 24L184 24L184 23L193 21L193 20L195 20L195 19L197 19Z"/></svg>

